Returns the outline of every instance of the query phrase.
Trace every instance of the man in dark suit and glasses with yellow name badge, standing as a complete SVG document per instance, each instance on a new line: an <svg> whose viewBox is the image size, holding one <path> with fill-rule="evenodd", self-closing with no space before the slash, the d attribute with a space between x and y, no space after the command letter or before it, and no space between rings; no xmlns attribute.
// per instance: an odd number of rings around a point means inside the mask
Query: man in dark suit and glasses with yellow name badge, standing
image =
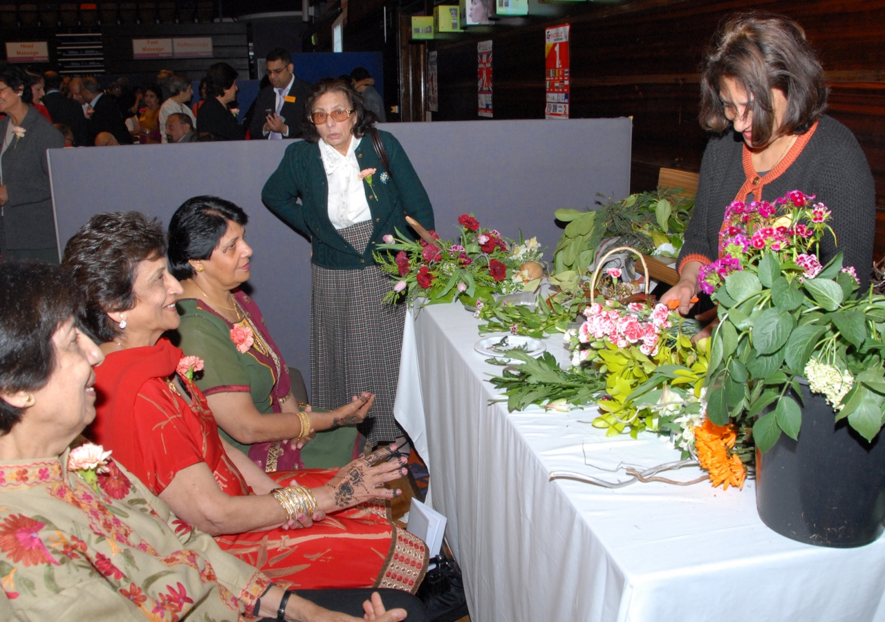
<svg viewBox="0 0 885 622"><path fill-rule="evenodd" d="M300 138L303 134L304 102L311 85L299 80L289 52L282 48L267 54L270 86L258 91L249 136L255 140Z"/></svg>

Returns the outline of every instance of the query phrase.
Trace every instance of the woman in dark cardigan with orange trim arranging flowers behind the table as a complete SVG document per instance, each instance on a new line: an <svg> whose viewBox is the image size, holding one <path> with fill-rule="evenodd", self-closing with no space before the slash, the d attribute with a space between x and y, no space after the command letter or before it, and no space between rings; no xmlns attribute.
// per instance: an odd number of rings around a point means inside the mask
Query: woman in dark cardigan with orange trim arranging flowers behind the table
<svg viewBox="0 0 885 622"><path fill-rule="evenodd" d="M680 281L661 302L689 312L697 273L719 257L719 232L733 201L766 200L801 190L833 211L832 235L820 262L843 252L861 290L869 288L875 234L873 175L854 134L825 115L827 86L820 61L796 22L744 13L723 21L704 58L701 126L707 144L695 213L679 257ZM733 131L729 131L733 130Z"/></svg>

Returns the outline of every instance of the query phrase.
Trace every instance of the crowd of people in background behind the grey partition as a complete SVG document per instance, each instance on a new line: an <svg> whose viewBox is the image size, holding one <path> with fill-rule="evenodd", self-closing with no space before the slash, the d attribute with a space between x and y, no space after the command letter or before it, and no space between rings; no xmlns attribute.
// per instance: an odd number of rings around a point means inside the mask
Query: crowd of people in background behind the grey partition
<svg viewBox="0 0 885 622"><path fill-rule="evenodd" d="M195 97L190 76L162 70L155 82L134 86L127 77L102 88L98 78L27 70L32 106L65 137L65 147L299 138L309 82L299 79L289 51L266 58L258 97L242 115L239 73L227 63L209 67ZM365 67L339 76L366 99L366 110L385 122L384 101ZM203 113L201 116L200 113Z"/></svg>

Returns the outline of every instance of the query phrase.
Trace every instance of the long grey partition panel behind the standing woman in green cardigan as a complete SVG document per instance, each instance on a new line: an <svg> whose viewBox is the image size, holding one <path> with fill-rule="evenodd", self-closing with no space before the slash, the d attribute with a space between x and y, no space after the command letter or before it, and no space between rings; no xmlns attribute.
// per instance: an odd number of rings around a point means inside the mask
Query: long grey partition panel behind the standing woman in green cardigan
<svg viewBox="0 0 885 622"><path fill-rule="evenodd" d="M550 258L560 234L554 210L585 209L597 193L627 196L630 119L403 123L382 129L395 134L412 159L444 238L457 233L460 214L473 211L483 226L508 237L520 229L536 235ZM50 150L61 248L102 211L137 210L168 223L191 196L217 195L239 204L250 216L247 240L255 250L252 293L287 363L310 386L310 243L261 203L261 188L287 144Z"/></svg>

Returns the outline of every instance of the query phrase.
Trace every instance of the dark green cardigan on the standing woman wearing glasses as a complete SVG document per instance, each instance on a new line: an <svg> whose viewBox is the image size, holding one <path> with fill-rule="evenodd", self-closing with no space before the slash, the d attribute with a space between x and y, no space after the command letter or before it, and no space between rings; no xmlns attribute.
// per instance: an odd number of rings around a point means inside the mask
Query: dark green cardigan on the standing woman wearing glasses
<svg viewBox="0 0 885 622"><path fill-rule="evenodd" d="M384 235L394 234L394 227L405 235L413 236L412 229L405 223L406 214L418 220L426 229L434 228L434 211L427 191L421 185L402 145L393 134L379 134L391 168L387 183L381 182L381 173L386 169L375 153L372 138L364 136L357 148L360 168L377 169L372 178L377 199L373 198L368 183L363 182L374 229L362 255L342 238L329 220L326 169L323 168L316 143L295 142L289 145L280 166L261 191L261 198L270 211L311 238L311 261L320 267L361 270L366 265L373 265L375 244L382 243ZM302 203L296 203L299 197Z"/></svg>

